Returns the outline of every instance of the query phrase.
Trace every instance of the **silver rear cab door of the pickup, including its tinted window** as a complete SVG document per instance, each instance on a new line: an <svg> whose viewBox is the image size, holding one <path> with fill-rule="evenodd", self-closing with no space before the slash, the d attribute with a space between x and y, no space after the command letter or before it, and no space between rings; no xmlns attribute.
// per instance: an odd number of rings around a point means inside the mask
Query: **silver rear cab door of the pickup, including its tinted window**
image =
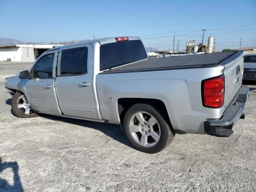
<svg viewBox="0 0 256 192"><path fill-rule="evenodd" d="M56 94L66 116L97 119L92 90L93 48L91 44L60 48Z"/></svg>

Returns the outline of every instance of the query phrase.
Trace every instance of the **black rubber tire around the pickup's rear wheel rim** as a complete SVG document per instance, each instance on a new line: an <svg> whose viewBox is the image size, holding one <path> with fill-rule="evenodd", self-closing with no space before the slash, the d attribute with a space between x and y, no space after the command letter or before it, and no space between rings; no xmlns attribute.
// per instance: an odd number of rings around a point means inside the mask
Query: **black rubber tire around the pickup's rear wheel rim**
<svg viewBox="0 0 256 192"><path fill-rule="evenodd" d="M137 112L144 111L152 114L154 118L158 121L158 124L160 125L161 129L161 135L160 139L154 146L145 147L140 144L138 144L133 138L129 130L129 122L134 114ZM132 144L134 148L136 148L139 151L145 152L145 153L157 153L166 148L168 146L173 138L174 138L174 132L172 131L172 128L170 128L168 124L168 120L165 117L165 114L162 112L161 109L158 109L157 106L154 106L152 104L146 104L146 103L138 103L134 104L131 108L128 109L124 116L124 132Z"/></svg>

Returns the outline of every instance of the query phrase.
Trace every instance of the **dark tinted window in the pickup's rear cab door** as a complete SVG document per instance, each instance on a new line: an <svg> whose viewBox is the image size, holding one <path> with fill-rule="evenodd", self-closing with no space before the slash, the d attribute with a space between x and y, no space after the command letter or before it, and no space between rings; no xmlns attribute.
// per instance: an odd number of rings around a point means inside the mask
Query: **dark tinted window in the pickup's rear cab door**
<svg viewBox="0 0 256 192"><path fill-rule="evenodd" d="M60 76L86 74L87 57L87 47L62 50L60 59Z"/></svg>

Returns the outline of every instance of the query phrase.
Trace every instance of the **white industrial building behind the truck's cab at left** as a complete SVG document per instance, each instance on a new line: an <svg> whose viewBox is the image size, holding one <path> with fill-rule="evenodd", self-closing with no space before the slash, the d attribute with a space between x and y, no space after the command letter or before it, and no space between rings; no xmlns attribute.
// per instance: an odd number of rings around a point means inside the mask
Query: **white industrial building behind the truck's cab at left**
<svg viewBox="0 0 256 192"><path fill-rule="evenodd" d="M0 61L34 62L43 52L61 45L6 45L0 46Z"/></svg>

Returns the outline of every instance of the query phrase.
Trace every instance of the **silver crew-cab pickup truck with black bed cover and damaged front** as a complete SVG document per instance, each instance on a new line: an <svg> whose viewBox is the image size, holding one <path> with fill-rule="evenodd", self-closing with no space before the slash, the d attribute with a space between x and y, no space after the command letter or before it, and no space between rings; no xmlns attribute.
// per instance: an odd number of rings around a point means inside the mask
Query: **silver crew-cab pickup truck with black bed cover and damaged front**
<svg viewBox="0 0 256 192"><path fill-rule="evenodd" d="M20 118L40 113L120 124L137 150L175 135L228 137L249 95L243 52L148 59L138 37L104 38L44 52L6 79Z"/></svg>

